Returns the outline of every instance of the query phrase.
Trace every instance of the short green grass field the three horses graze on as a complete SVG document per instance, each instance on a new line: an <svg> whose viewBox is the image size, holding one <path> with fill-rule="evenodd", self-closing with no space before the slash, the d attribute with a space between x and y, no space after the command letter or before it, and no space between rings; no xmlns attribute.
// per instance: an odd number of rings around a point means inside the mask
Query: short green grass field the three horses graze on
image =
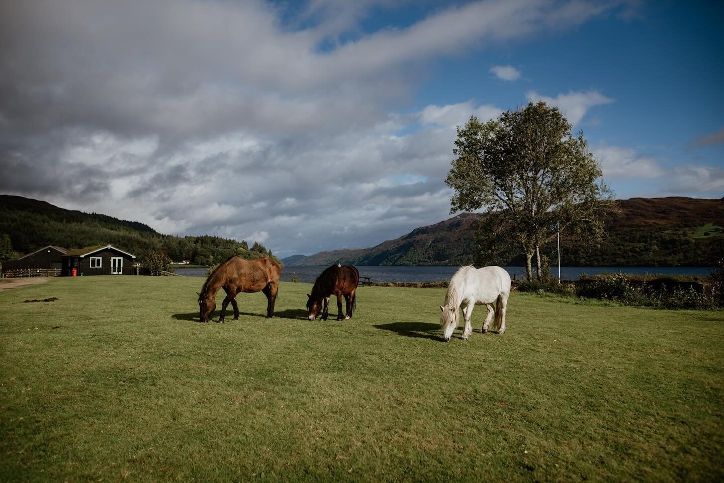
<svg viewBox="0 0 724 483"><path fill-rule="evenodd" d="M353 319L309 322L310 285L282 282L274 319L241 294L200 324L202 282L0 292L0 481L724 479L722 312L514 293L505 335L477 308L443 343L442 289L361 287Z"/></svg>

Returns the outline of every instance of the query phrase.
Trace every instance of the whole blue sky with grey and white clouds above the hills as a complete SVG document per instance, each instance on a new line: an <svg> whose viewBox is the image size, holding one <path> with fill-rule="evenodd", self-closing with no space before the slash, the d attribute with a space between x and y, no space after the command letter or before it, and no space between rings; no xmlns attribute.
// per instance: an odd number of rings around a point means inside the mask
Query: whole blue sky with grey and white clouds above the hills
<svg viewBox="0 0 724 483"><path fill-rule="evenodd" d="M0 193L371 247L452 217L455 126L543 100L618 199L724 195L720 2L0 2Z"/></svg>

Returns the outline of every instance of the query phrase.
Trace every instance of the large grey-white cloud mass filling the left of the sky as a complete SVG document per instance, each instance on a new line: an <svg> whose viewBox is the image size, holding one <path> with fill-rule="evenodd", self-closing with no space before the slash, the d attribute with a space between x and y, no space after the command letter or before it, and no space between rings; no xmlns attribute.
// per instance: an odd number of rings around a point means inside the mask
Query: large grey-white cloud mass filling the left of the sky
<svg viewBox="0 0 724 483"><path fill-rule="evenodd" d="M455 125L410 112L436 59L571 28L607 2L0 3L0 190L275 253L370 246L447 217ZM613 7L612 7L613 8Z"/></svg>

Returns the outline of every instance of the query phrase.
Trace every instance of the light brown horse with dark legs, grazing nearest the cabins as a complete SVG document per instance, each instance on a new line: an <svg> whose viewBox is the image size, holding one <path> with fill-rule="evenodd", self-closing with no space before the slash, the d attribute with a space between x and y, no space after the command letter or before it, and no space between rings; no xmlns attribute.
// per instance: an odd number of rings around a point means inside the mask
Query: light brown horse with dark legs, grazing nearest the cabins
<svg viewBox="0 0 724 483"><path fill-rule="evenodd" d="M219 288L227 293L222 303L219 322L224 322L230 302L234 307L234 320L239 320L239 307L235 297L240 292L264 292L269 301L266 305L266 316L274 316L274 301L277 300L281 274L282 267L272 259L245 260L240 256L230 256L203 282L201 293L198 294L198 318L201 322L209 322L209 315L216 308L216 292Z"/></svg>

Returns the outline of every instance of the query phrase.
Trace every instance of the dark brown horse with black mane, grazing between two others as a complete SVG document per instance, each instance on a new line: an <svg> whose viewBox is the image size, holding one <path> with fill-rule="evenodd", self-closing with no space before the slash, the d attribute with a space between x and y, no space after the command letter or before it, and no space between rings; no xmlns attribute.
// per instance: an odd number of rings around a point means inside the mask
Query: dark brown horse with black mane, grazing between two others
<svg viewBox="0 0 724 483"><path fill-rule="evenodd" d="M307 294L307 318L314 320L319 315L321 308L321 319L327 320L329 315L329 297L337 295L337 320L349 319L357 306L357 285L360 280L360 272L354 266L332 265L317 277L312 287L311 295ZM342 296L347 302L347 316L342 316ZM322 301L324 300L324 307Z"/></svg>

